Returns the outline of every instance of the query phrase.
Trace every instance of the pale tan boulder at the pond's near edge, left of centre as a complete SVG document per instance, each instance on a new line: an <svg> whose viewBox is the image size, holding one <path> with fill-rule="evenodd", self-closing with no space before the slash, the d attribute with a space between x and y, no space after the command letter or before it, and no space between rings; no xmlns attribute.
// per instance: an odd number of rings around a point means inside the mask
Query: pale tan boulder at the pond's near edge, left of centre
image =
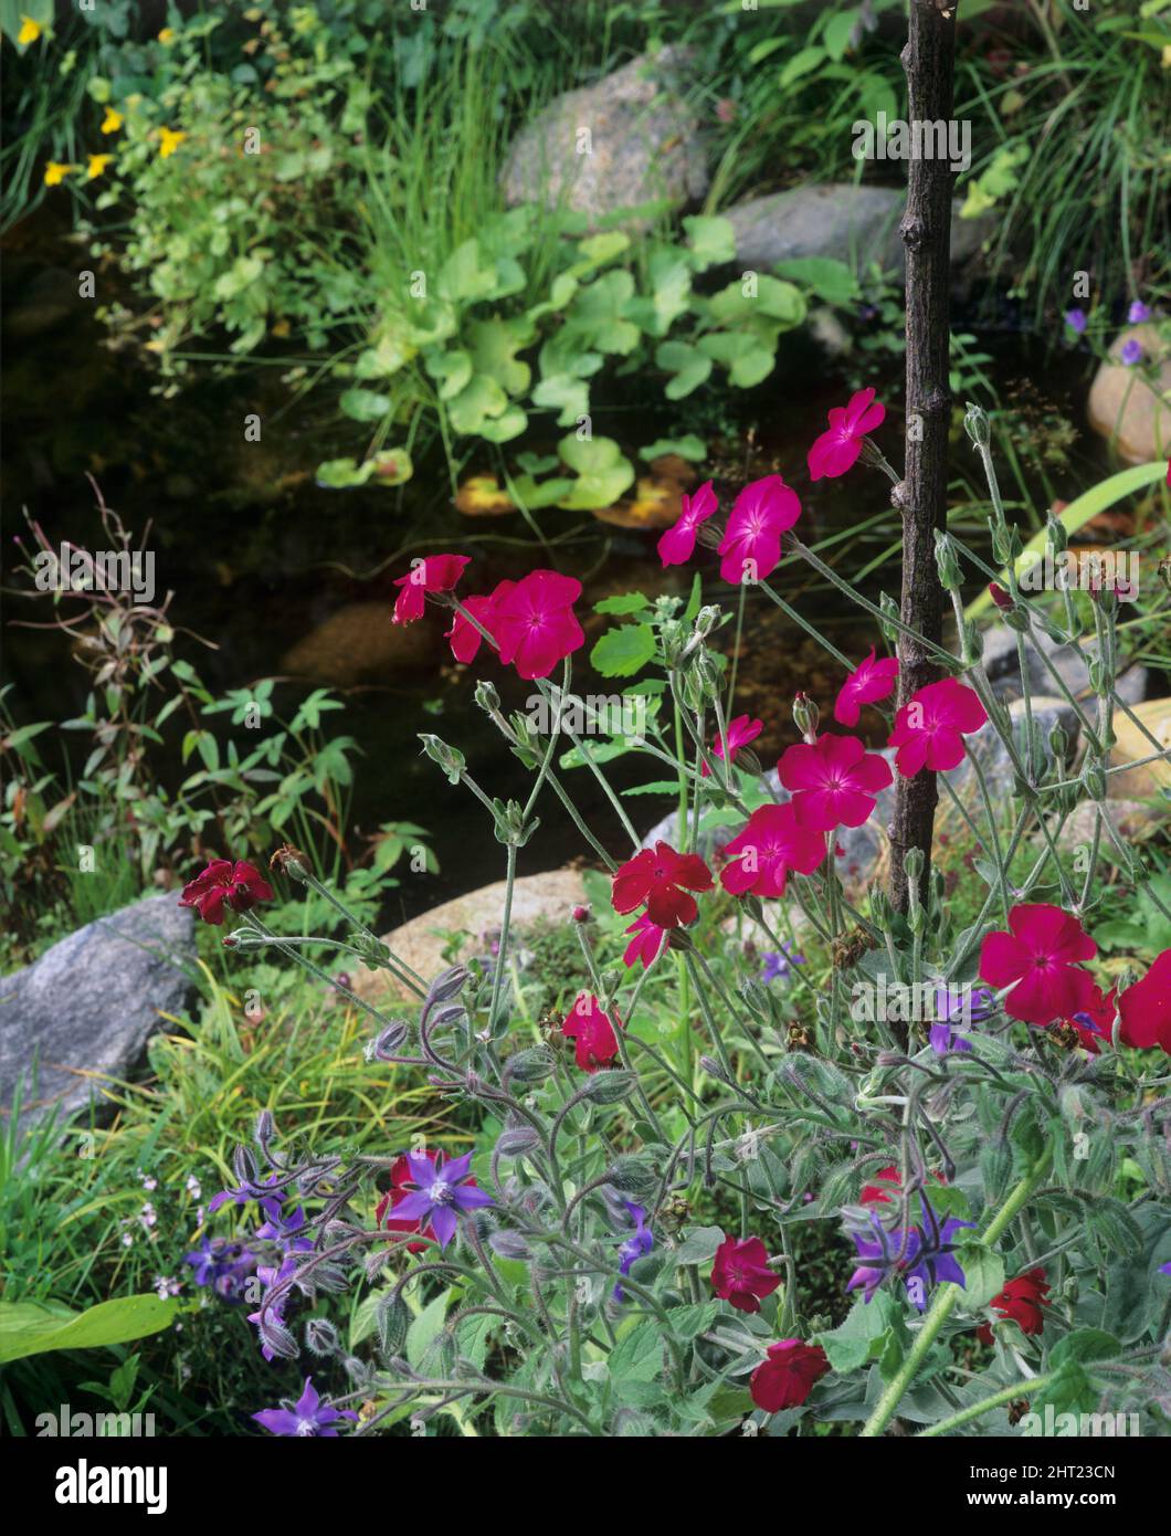
<svg viewBox="0 0 1171 1536"><path fill-rule="evenodd" d="M503 925L506 882L468 891L430 912L413 917L391 932L382 935L396 958L408 965L425 982L433 982L451 963L444 958L444 949L453 934L463 934L462 958L490 949L493 938ZM513 885L513 911L510 922L510 945L523 940L525 929L537 922L563 923L574 906L586 900L585 883L577 869L549 869L548 874L529 874ZM382 998L413 1000L390 971L358 971L353 977L355 992L367 1001Z"/></svg>

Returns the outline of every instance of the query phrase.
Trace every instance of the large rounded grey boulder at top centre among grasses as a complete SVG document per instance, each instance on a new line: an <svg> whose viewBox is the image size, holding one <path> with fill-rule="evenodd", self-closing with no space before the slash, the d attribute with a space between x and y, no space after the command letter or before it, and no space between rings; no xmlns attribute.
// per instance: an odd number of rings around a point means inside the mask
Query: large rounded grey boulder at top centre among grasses
<svg viewBox="0 0 1171 1536"><path fill-rule="evenodd" d="M706 154L698 117L681 97L689 63L688 49L665 48L551 101L508 151L500 187L510 207L569 207L592 221L643 203L701 198Z"/></svg>

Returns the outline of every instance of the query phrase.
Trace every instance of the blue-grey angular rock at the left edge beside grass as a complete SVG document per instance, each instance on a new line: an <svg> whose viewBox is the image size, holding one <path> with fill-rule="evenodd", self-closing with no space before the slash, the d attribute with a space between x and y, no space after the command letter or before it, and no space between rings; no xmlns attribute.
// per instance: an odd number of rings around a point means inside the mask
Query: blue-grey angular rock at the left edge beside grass
<svg viewBox="0 0 1171 1536"><path fill-rule="evenodd" d="M163 1014L192 991L195 914L167 891L98 917L23 971L0 978L0 1103L23 1075L21 1120L61 1117L124 1078ZM186 969L184 969L186 963ZM35 1072L35 1089L34 1089Z"/></svg>

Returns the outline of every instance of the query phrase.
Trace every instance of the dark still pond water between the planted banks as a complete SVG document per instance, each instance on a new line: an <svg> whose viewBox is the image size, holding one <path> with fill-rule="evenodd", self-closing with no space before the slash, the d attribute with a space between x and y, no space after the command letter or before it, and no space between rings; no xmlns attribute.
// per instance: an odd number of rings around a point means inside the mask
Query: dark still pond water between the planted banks
<svg viewBox="0 0 1171 1536"><path fill-rule="evenodd" d="M6 247L9 508L26 505L54 547L61 539L92 547L97 518L86 481L92 475L107 505L130 528L152 521L157 587L173 590L175 624L212 642L210 650L193 637L181 645L210 688L296 673L339 690L345 714L330 720L336 731L356 737L364 754L356 765L355 831L361 836L385 820L416 820L431 831L440 862L437 876L407 876L391 892L382 914L387 925L499 879L503 851L483 811L419 754L417 733L434 731L457 745L490 794L523 796L528 773L473 705L471 693L476 679L488 676L505 707L520 708L533 687L490 659L473 668L454 665L439 616L428 613L410 630L393 627L393 578L413 554L442 548L473 554L467 591L488 590L533 565L556 564L585 585L580 614L588 645L576 659L574 687L614 693L620 684L595 677L586 662L589 645L612 622L592 614L592 604L632 588L686 593L691 570L661 571L655 533L615 528L588 515L540 513L546 550L516 513L470 519L454 508L447 467L434 455L416 464L414 478L401 490L319 488L313 468L322 458L362 450L361 442L339 444L339 419L324 392L293 401L279 381L282 369L272 367L233 379L216 378L209 369L170 399L152 395L152 375L130 353L112 352L97 319L78 319L75 270L83 263L77 247L37 221L11 232ZM991 350L999 387L1036 378L1041 359L1025 338L1001 338ZM899 362L887 358L886 367L889 395L896 399ZM1076 387L1076 379L1065 379L1048 396L1073 415L1077 407L1068 392ZM777 375L738 402L741 441L726 444L726 456L708 465L704 478L715 473L727 505L744 479L781 470L803 498L804 541L816 544L856 530L835 544L830 559L858 571L898 538L886 481L859 473L810 487L804 468L807 444L823 430L826 410L843 398L833 367L812 343L795 338L783 350ZM262 418L261 442L244 441L250 412ZM635 416L637 441L645 441L646 410L637 398L597 412L594 430L629 441ZM895 412L892 425L898 430ZM543 452L549 444L526 445ZM1093 447L1085 450L1090 458ZM487 456L473 455L460 478L491 467ZM1079 472L1082 485L1090 484L1085 473ZM876 524L859 528L884 508ZM15 521L9 513L9 530ZM698 565L709 593L720 596L715 556L701 551ZM873 642L869 621L804 567L783 567L778 585L847 654L861 654ZM879 582L872 574L866 585L873 596ZM892 574L886 585L896 591ZM83 707L87 674L71 664L68 641L55 631L12 627L14 619L46 614L41 604L12 598L11 581L6 588L6 677L17 685L20 717L68 719ZM731 590L724 588L723 599L734 610ZM724 633L731 647L732 628ZM766 763L797 737L793 693L804 688L826 699L838 680L836 668L812 641L767 599L749 596L737 713L764 720L757 745ZM293 680L282 685L278 713L292 713L302 688ZM224 720L218 717L218 730ZM84 737L58 737L74 751L77 770ZM163 773L169 783L178 783L183 770L170 760ZM658 777L631 759L615 762L609 773L620 788ZM609 846L622 848L617 820L594 780L579 770L572 782L591 823ZM671 808L651 797L628 805L640 828ZM549 799L540 833L522 851L520 871L554 868L580 852L579 833Z"/></svg>

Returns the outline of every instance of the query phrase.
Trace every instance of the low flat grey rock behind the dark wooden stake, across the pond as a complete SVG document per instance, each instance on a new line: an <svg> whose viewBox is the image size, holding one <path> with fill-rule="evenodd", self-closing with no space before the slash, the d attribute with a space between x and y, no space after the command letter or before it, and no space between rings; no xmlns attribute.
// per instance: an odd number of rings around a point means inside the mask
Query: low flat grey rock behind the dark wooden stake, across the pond
<svg viewBox="0 0 1171 1536"><path fill-rule="evenodd" d="M750 198L724 209L735 230L737 261L744 267L772 267L798 257L835 257L858 270L878 261L886 272L902 272L904 249L898 227L907 197L898 187L849 183L803 186L790 192ZM985 218L959 218L952 204L952 261L976 255L990 233Z"/></svg>

